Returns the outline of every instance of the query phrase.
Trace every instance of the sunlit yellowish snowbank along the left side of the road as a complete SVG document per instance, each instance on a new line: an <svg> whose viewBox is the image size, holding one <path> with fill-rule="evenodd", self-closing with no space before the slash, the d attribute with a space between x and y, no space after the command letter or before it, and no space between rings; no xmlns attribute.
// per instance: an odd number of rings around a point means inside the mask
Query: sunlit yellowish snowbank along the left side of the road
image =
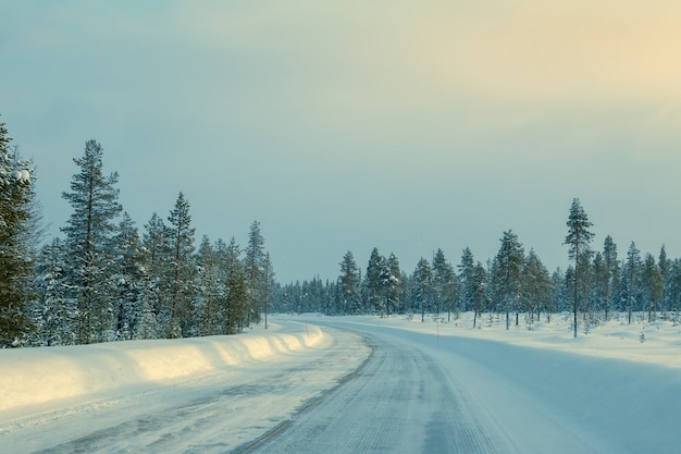
<svg viewBox="0 0 681 454"><path fill-rule="evenodd" d="M210 373L318 345L317 327L270 324L245 334L0 349L0 412ZM287 324L288 327L288 324Z"/></svg>

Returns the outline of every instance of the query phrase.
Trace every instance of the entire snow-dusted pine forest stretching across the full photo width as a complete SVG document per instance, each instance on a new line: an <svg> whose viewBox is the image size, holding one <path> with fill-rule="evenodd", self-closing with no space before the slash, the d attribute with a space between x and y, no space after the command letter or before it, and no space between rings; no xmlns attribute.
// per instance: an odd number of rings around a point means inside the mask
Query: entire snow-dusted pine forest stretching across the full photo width
<svg viewBox="0 0 681 454"><path fill-rule="evenodd" d="M622 314L627 323L679 321L681 259L668 258L664 245L657 257L642 254L634 242L618 254L609 235L595 246L579 199L568 211L566 270L549 272L509 230L486 260L466 247L455 266L437 249L407 272L394 254L374 248L363 268L348 250L336 280L278 283L258 221L244 247L207 236L197 246L182 192L166 217L152 212L140 231L96 140L73 159L62 236L46 241L39 175L11 142L0 123L0 347L235 334L251 323L267 328L271 312L450 321L471 311L474 327L486 315L507 329L560 314L572 317L574 336Z"/></svg>

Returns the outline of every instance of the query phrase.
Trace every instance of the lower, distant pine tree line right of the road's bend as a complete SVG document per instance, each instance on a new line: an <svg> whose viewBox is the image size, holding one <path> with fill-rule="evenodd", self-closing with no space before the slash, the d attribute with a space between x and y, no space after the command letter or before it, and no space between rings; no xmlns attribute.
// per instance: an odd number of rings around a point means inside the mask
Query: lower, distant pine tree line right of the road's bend
<svg viewBox="0 0 681 454"><path fill-rule="evenodd" d="M679 320L681 302L681 259L669 259L661 246L657 259L641 255L631 243L623 257L610 235L602 249L592 247L592 223L579 199L568 214L568 246L571 265L549 272L537 254L525 251L518 235L508 230L499 240L494 258L476 260L466 247L454 266L442 249L431 260L421 258L410 273L400 269L394 254L371 251L366 272L351 251L339 262L335 281L319 278L281 287L274 310L282 312L322 312L325 315L392 314L425 320L430 317L458 317L473 312L473 327L480 316L498 317L506 328L534 323L542 316L550 321L557 312L572 314L574 336L578 329L589 332L594 326L626 314L653 321Z"/></svg>

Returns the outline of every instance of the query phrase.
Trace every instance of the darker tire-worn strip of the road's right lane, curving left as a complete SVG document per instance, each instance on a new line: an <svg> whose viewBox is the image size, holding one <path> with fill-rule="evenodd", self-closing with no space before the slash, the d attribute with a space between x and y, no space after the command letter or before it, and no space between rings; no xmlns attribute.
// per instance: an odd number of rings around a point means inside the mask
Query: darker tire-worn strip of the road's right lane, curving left
<svg viewBox="0 0 681 454"><path fill-rule="evenodd" d="M475 418L437 361L380 341L372 360L342 388L246 452L508 452Z"/></svg>

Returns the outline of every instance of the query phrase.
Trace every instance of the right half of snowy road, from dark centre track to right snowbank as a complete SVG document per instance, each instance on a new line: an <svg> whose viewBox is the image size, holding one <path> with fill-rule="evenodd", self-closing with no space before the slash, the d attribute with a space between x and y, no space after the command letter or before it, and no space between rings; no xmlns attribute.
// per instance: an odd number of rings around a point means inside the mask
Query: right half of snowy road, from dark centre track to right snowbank
<svg viewBox="0 0 681 454"><path fill-rule="evenodd" d="M322 321L367 336L357 376L249 453L605 453L531 389L475 360L484 343Z"/></svg>

